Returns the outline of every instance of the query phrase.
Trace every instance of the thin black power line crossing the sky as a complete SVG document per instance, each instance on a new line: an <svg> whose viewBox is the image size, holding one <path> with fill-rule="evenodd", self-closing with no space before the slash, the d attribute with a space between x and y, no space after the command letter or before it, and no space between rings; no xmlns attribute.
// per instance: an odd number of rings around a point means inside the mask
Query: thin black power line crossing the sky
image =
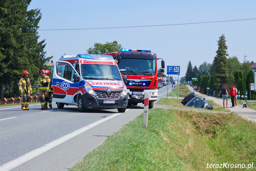
<svg viewBox="0 0 256 171"><path fill-rule="evenodd" d="M119 28L133 28L133 27L155 27L155 26L175 26L175 25L185 25L185 24L202 24L202 23L218 23L218 22L227 22L227 21L242 21L242 20L255 20L256 18L249 19L240 19L240 20L226 20L226 21L209 21L209 22L200 22L200 23L182 23L182 24L164 24L164 25L150 25L150 26L127 26L127 27L102 27L102 28L85 28L85 29L39 29L43 30L89 30L89 29L119 29Z"/></svg>

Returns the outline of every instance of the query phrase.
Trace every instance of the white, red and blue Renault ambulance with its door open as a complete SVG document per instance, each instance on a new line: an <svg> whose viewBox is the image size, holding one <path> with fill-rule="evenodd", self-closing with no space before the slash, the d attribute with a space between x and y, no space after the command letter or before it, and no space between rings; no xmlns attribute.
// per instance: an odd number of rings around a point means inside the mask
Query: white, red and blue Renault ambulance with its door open
<svg viewBox="0 0 256 171"><path fill-rule="evenodd" d="M127 77L122 78L112 56L64 55L55 63L53 72L53 101L59 109L73 104L79 112L86 108L125 112Z"/></svg>

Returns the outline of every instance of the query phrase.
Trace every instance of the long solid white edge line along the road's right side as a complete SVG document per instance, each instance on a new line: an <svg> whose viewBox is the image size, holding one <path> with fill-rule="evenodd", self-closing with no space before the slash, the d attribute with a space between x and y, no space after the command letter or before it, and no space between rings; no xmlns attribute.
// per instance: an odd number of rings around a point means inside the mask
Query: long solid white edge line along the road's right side
<svg viewBox="0 0 256 171"><path fill-rule="evenodd" d="M128 111L128 110L130 110L130 109L126 109L126 111ZM37 149L35 149L31 152L28 152L28 153L24 154L23 156L18 157L17 159L14 159L12 161L9 161L9 162L1 165L0 170L1 171L9 171L9 170L19 166L20 164L23 164L26 161L28 161L30 159L33 159L34 157L39 156L40 154L56 147L57 145L60 145L61 143L65 142L65 141L67 141L67 140L69 140L69 139L71 139L71 138L73 138L73 137L75 137L79 134L82 134L83 132L89 130L90 128L93 128L93 127L97 126L100 123L103 123L103 122L105 122L105 121L107 121L107 120L109 120L113 117L118 116L119 114L121 114L121 113L112 114L109 117L106 117L104 119L101 119L101 120L98 120L94 123L91 123L91 124L89 124L89 125L87 125L83 128L80 128L80 129L78 129L74 132L71 132L70 134L67 134L67 135L65 135L65 136L63 136L59 139L56 139L56 140L54 140L54 141L52 141L52 142L50 142L50 143L48 143L48 144L46 144L46 145L44 145L40 148L37 148Z"/></svg>

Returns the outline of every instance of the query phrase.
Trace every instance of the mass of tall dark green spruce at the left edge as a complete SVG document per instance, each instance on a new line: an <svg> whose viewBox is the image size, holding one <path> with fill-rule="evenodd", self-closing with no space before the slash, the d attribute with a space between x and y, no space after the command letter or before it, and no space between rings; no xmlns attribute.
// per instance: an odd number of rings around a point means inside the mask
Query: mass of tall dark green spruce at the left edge
<svg viewBox="0 0 256 171"><path fill-rule="evenodd" d="M0 0L0 99L3 85L18 91L18 80L28 70L31 80L39 77L52 57L45 57L45 40L38 41L40 10L29 10L31 0Z"/></svg>

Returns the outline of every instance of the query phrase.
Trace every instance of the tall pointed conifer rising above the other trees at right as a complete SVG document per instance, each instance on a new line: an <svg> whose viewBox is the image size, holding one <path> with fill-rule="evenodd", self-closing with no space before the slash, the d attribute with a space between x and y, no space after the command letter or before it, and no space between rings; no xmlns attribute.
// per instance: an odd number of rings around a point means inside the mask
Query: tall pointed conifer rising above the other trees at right
<svg viewBox="0 0 256 171"><path fill-rule="evenodd" d="M218 50L216 51L216 56L213 60L214 70L214 86L217 89L221 88L221 84L229 81L228 78L228 46L226 45L226 40L224 34L222 34L219 38L218 42Z"/></svg>

